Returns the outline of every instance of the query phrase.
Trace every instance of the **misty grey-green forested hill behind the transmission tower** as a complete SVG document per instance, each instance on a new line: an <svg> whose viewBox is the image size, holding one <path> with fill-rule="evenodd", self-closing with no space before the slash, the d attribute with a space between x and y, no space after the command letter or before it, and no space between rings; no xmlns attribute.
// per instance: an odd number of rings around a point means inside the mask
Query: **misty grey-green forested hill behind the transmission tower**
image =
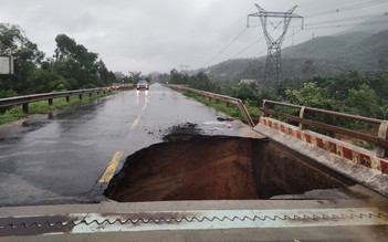
<svg viewBox="0 0 388 242"><path fill-rule="evenodd" d="M388 30L317 36L282 50L283 76L308 77L347 71L388 70ZM207 70L214 81L238 83L264 78L265 57L229 60Z"/></svg>

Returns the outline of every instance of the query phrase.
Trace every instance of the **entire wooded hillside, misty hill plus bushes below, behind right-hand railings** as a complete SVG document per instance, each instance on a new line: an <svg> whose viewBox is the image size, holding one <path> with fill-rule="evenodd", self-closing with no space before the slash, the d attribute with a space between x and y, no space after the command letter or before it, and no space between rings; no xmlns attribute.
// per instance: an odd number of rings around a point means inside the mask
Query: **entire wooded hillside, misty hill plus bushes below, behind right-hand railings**
<svg viewBox="0 0 388 242"><path fill-rule="evenodd" d="M228 60L190 75L172 70L169 78L159 80L238 97L252 106L272 99L388 119L387 36L386 27L375 33L363 29L285 48L283 81L276 86L265 81L265 57Z"/></svg>

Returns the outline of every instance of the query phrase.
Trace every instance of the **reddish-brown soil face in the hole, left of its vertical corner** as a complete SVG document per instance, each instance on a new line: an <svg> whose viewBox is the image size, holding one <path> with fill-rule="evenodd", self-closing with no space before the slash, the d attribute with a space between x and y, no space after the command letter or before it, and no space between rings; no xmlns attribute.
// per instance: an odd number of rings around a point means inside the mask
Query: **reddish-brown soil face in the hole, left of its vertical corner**
<svg viewBox="0 0 388 242"><path fill-rule="evenodd" d="M159 144L128 157L115 179L106 194L116 201L259 199L249 139Z"/></svg>

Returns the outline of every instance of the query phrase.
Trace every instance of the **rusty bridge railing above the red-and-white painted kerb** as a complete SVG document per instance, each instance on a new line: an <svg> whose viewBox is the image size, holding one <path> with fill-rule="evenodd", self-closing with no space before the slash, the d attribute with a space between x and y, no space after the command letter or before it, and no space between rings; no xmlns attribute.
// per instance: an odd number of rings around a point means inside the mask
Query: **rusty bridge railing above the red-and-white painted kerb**
<svg viewBox="0 0 388 242"><path fill-rule="evenodd" d="M282 106L282 107L290 107L290 108L298 109L298 116L276 112L273 109L274 106ZM384 157L388 156L388 120L369 118L369 117L361 117L361 116L357 116L357 115L344 114L344 113L318 109L318 108L306 107L306 106L298 106L298 105L280 103L280 102L268 101L268 99L263 101L263 106L260 108L260 111L263 112L264 116L273 115L276 117L282 117L282 118L286 118L289 120L297 122L300 129L308 129L308 126L312 126L312 127L321 128L321 129L324 129L326 131L331 131L334 134L346 135L346 136L349 136L352 138L356 138L356 139L360 139L360 140L367 141L367 143L371 143L371 144L378 146L378 149L377 149L378 157L384 158ZM328 125L328 124L325 124L322 122L313 120L310 118L311 114L324 114L324 115L328 115L332 117L342 117L342 118L347 118L347 119L352 119L352 120L356 120L356 122L379 125L378 134L376 136L367 135L367 134L363 134L363 133L359 133L356 130L352 130L352 129L338 127L335 125Z"/></svg>

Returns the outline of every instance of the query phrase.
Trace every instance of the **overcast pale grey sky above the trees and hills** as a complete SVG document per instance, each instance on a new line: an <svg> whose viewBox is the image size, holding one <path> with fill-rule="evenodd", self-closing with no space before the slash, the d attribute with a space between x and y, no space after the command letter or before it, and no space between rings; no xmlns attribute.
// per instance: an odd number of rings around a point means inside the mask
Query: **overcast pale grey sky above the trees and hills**
<svg viewBox="0 0 388 242"><path fill-rule="evenodd" d="M180 65L200 69L233 57L265 54L259 19L247 27L247 15L256 12L254 3L268 11L287 11L310 15L371 0L0 0L0 22L19 24L27 36L46 56L52 56L55 36L64 33L98 53L112 71L169 72ZM385 3L356 8L340 14L324 14L306 22L327 21L388 11ZM377 2L377 1L376 1ZM339 15L339 17L338 17ZM276 24L274 22L273 24ZM301 21L290 28L283 46L312 36L312 30L298 32ZM245 31L243 31L245 29ZM325 35L344 29L316 29ZM239 33L227 50L222 51ZM296 32L292 38L292 32ZM222 51L221 54L219 54ZM214 56L217 56L214 59Z"/></svg>

